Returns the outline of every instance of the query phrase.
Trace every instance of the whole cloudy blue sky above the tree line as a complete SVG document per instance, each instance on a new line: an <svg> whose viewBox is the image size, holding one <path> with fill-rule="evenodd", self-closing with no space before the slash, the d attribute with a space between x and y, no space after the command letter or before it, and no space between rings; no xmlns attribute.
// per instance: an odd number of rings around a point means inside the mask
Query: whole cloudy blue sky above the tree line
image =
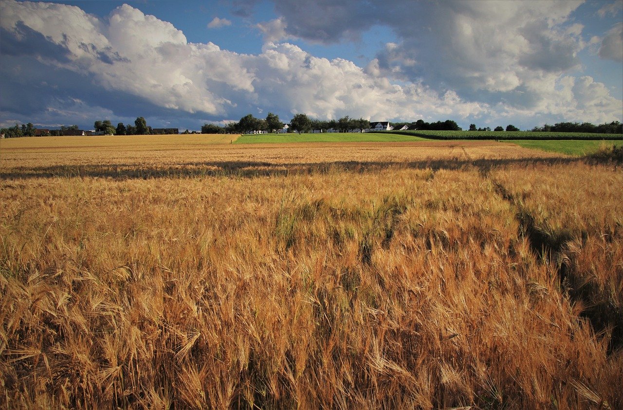
<svg viewBox="0 0 623 410"><path fill-rule="evenodd" d="M623 122L623 0L0 0L0 127Z"/></svg>

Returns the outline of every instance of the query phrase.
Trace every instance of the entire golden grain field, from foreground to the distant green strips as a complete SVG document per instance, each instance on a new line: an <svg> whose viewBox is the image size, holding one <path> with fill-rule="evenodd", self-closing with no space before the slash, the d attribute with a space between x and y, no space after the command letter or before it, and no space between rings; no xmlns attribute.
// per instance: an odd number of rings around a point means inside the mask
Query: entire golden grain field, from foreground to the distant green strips
<svg viewBox="0 0 623 410"><path fill-rule="evenodd" d="M72 138L0 141L4 408L623 408L616 165Z"/></svg>

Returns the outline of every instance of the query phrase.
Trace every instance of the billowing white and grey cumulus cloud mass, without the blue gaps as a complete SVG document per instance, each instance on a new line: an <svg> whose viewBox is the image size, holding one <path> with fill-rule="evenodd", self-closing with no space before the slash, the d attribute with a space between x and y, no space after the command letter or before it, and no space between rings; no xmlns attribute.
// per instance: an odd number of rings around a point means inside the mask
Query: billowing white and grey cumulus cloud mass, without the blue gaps
<svg viewBox="0 0 623 410"><path fill-rule="evenodd" d="M71 107L111 117L123 103L123 109L149 106L197 121L239 118L258 107L285 120L295 113L412 121L621 119L621 100L606 86L568 75L585 47L583 27L569 22L576 2L369 0L368 6L278 1L280 16L256 26L264 35L262 52L239 54L212 42L188 42L171 23L127 4L98 19L75 6L4 0L0 74L8 88L31 87L36 98L3 96L2 109L6 118L22 118L28 107L50 121L54 113L77 118L75 110L59 108L55 93L65 90L65 99L81 101ZM356 39L388 16L398 41L366 67L284 42ZM226 21L216 17L210 24ZM620 40L621 28L615 29L619 37L602 41L611 57ZM107 98L87 101L94 90Z"/></svg>

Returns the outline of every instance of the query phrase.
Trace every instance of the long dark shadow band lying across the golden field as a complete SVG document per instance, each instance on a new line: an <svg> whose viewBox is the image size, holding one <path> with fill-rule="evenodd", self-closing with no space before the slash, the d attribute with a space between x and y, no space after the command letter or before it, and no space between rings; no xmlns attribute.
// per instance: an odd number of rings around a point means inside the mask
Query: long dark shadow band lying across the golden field
<svg viewBox="0 0 623 410"><path fill-rule="evenodd" d="M479 159L479 160L423 160L405 162L315 162L273 164L252 161L205 161L183 162L162 167L144 167L141 164L87 164L53 165L49 167L19 167L0 172L0 179L31 179L46 177L100 177L110 179L151 179L189 177L264 177L305 174L331 174L335 172L368 172L383 169L449 169L457 170L476 167L487 172L493 167L504 165L570 164L583 161L581 158L539 158L530 159Z"/></svg>

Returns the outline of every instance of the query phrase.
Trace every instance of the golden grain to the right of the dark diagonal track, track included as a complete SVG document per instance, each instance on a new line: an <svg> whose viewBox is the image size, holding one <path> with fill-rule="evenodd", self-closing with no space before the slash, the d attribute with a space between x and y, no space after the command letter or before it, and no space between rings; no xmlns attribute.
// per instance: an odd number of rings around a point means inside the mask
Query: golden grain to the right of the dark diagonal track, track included
<svg viewBox="0 0 623 410"><path fill-rule="evenodd" d="M599 331L623 345L623 174L584 164L498 170L538 249Z"/></svg>

